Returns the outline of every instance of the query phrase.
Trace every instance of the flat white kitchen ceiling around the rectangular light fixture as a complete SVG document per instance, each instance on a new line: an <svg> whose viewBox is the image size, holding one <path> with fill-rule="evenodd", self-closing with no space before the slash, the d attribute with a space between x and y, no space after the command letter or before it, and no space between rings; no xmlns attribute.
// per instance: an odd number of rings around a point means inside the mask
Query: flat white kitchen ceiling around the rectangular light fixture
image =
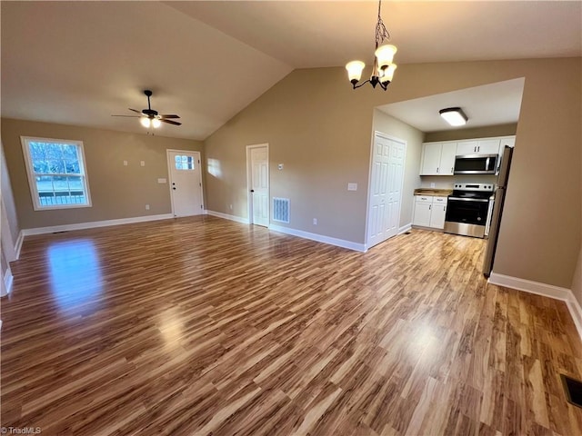
<svg viewBox="0 0 582 436"><path fill-rule="evenodd" d="M507 80L452 93L385 104L378 109L416 127L421 132L459 129L451 127L439 116L438 111L447 107L460 107L467 114L467 124L461 128L517 123L524 83L523 78Z"/></svg>

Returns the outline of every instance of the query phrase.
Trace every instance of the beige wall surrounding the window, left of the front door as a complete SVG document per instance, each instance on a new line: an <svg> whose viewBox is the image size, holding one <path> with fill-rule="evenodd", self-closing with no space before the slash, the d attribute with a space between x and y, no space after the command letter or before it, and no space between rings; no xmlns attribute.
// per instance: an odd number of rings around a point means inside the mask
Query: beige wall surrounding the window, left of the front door
<svg viewBox="0 0 582 436"><path fill-rule="evenodd" d="M21 135L83 141L93 206L35 211ZM203 144L194 140L11 119L2 120L2 141L22 229L171 213L169 186L157 183L158 178L168 177L166 149L203 149ZM140 161L146 166L140 166Z"/></svg>

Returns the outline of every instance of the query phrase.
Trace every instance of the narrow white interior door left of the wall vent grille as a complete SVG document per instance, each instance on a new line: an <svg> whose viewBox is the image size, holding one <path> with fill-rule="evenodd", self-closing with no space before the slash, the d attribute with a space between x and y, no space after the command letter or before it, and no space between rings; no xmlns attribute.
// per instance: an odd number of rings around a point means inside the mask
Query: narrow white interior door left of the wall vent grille
<svg viewBox="0 0 582 436"><path fill-rule="evenodd" d="M251 223L269 225L269 154L268 145L249 145L249 216Z"/></svg>

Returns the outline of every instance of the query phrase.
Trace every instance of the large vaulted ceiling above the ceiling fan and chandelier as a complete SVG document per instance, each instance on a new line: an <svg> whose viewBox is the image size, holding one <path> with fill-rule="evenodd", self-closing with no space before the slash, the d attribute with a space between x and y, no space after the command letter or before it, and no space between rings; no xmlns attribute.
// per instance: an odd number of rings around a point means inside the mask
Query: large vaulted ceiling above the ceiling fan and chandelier
<svg viewBox="0 0 582 436"><path fill-rule="evenodd" d="M369 62L377 3L2 1L1 8L2 116L143 134L136 120L110 115L145 108L147 88L154 109L182 117L183 125L156 134L205 139L295 68ZM398 64L582 55L581 1L385 1L382 16ZM474 123L491 124L473 111Z"/></svg>

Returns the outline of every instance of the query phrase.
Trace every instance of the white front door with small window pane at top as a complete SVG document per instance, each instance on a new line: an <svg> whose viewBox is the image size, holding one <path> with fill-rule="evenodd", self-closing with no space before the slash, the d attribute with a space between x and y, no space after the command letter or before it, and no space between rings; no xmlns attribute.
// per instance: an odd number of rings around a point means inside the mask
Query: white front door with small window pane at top
<svg viewBox="0 0 582 436"><path fill-rule="evenodd" d="M198 215L203 212L200 154L168 150L170 193L174 216Z"/></svg>

